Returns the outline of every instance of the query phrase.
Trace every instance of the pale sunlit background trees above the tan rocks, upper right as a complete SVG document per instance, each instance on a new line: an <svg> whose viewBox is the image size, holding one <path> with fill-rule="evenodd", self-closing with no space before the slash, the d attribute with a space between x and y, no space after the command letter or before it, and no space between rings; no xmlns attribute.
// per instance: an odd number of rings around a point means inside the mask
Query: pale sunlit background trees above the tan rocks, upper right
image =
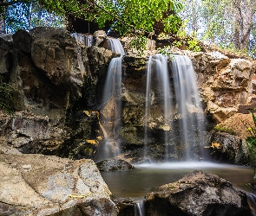
<svg viewBox="0 0 256 216"><path fill-rule="evenodd" d="M188 17L190 31L201 33L201 40L217 43L223 48L248 50L253 54L255 0L187 0L182 16Z"/></svg>

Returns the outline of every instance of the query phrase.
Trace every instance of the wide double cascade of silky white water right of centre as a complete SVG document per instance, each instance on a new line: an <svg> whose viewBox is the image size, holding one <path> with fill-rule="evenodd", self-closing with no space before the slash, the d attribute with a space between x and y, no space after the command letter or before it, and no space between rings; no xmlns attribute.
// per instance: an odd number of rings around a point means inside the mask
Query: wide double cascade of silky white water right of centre
<svg viewBox="0 0 256 216"><path fill-rule="evenodd" d="M164 131L165 161L169 161L170 157L194 159L194 156L191 156L194 146L203 143L201 131L204 130L205 118L200 106L192 61L185 55L175 55L172 60L172 72L173 79L170 79L166 56L155 54L149 57L144 118L144 160L147 160L150 140L148 128L151 120L154 120L151 113L154 103L158 103L163 112L163 119L159 118L159 121L162 124L161 130ZM178 144L183 144L186 148L177 147ZM183 156L177 156L177 152L181 152L179 148L184 149Z"/></svg>

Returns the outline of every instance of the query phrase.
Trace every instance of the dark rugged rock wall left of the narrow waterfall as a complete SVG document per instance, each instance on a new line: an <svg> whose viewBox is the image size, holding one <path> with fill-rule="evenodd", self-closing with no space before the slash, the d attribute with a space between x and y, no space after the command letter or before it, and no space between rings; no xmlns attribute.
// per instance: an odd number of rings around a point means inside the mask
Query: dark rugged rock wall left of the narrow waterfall
<svg viewBox="0 0 256 216"><path fill-rule="evenodd" d="M1 114L1 142L23 153L93 158L102 136L95 110L115 54L55 28L1 35L0 52L0 73L16 90L20 111Z"/></svg>

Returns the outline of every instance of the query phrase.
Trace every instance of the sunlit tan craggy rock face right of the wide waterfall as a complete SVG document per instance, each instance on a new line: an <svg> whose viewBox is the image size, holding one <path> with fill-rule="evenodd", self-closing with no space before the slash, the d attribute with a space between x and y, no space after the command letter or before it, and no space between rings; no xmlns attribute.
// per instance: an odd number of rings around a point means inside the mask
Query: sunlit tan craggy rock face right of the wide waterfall
<svg viewBox="0 0 256 216"><path fill-rule="evenodd" d="M194 62L198 85L207 111L217 123L233 116L239 105L252 102L252 75L256 67L243 59L228 59L219 52L186 52Z"/></svg>

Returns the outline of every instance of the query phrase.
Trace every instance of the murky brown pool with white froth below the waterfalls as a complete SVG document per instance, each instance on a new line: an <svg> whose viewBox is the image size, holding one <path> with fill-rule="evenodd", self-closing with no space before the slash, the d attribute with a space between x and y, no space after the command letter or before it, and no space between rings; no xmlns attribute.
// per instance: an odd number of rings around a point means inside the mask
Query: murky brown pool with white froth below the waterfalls
<svg viewBox="0 0 256 216"><path fill-rule="evenodd" d="M145 194L154 191L154 187L178 181L196 169L219 175L226 181L230 181L234 187L255 193L252 187L245 185L248 182L256 182L253 179L253 168L213 162L167 162L133 165L135 169L101 172L102 178L115 197L140 199Z"/></svg>

